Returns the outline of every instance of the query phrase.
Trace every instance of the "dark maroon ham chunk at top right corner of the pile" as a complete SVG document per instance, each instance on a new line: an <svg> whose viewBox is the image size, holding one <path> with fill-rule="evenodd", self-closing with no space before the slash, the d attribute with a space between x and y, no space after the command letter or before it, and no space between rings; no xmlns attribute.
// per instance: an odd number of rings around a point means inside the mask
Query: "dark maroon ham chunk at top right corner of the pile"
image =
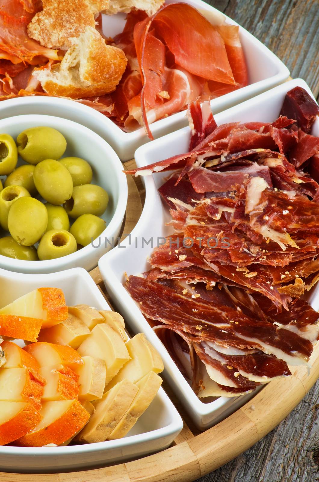
<svg viewBox="0 0 319 482"><path fill-rule="evenodd" d="M319 115L319 107L305 89L294 87L287 92L280 115L296 119L298 127L308 134Z"/></svg>

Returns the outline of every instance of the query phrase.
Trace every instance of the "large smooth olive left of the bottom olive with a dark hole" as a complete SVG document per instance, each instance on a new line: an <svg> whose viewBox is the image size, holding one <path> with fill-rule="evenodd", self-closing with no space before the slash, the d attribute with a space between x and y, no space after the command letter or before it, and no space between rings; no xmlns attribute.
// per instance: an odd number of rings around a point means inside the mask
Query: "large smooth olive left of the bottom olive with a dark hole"
<svg viewBox="0 0 319 482"><path fill-rule="evenodd" d="M40 240L48 224L48 213L42 202L34 198L19 198L10 208L8 228L13 239L23 246Z"/></svg>

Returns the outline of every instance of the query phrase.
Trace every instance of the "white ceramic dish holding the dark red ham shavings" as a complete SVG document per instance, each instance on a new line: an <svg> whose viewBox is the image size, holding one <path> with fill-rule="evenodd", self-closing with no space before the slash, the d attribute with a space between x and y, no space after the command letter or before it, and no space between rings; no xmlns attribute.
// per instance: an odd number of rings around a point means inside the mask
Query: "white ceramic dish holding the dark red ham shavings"
<svg viewBox="0 0 319 482"><path fill-rule="evenodd" d="M311 94L304 80L291 80L236 107L217 114L215 116L217 125L226 122L247 122L251 120L271 122L279 116L285 94L297 85L303 87ZM187 152L189 135L189 128L186 127L140 147L135 153L137 165L139 167L145 166L152 162ZM314 126L314 135L319 135L319 120L316 121ZM174 392L180 398L197 427L205 429L237 410L243 403L252 398L254 393L237 398L221 397L210 403L201 402L122 285L125 281L124 273L138 275L149 269L146 258L151 254L152 247L151 244L146 245L146 241L153 238L154 246L156 246L158 238L172 233L172 228L164 226L165 222L171 219L171 216L166 206L163 205L157 190L163 183L163 178L168 174L168 172L157 173L143 178L146 187L146 200L140 220L133 229L131 238L126 238L119 247L114 248L100 259L99 268L108 292L126 317L130 328L134 332L143 331L149 341L158 349L164 361L164 377L166 377ZM142 238L146 240L143 248ZM310 297L310 302L315 309L319 308L319 297L317 296L316 298L318 290L319 286L317 285Z"/></svg>

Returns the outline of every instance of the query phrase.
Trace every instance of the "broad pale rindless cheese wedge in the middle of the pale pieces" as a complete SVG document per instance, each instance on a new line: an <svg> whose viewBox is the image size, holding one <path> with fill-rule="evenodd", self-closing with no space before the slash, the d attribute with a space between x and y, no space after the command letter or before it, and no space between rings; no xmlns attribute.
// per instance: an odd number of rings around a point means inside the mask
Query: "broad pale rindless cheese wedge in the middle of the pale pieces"
<svg viewBox="0 0 319 482"><path fill-rule="evenodd" d="M130 359L121 336L106 323L99 323L93 328L92 335L83 341L78 348L78 353L80 356L91 356L105 361L106 384Z"/></svg>

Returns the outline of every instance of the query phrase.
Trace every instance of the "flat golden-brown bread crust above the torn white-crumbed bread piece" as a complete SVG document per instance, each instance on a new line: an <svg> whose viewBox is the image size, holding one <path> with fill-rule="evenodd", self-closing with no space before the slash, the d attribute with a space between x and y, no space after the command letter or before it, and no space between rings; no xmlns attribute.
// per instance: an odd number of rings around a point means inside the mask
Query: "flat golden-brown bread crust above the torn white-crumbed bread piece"
<svg viewBox="0 0 319 482"><path fill-rule="evenodd" d="M42 4L42 12L27 27L29 37L45 47L66 50L85 27L95 27L94 15L108 8L109 0L43 0Z"/></svg>

